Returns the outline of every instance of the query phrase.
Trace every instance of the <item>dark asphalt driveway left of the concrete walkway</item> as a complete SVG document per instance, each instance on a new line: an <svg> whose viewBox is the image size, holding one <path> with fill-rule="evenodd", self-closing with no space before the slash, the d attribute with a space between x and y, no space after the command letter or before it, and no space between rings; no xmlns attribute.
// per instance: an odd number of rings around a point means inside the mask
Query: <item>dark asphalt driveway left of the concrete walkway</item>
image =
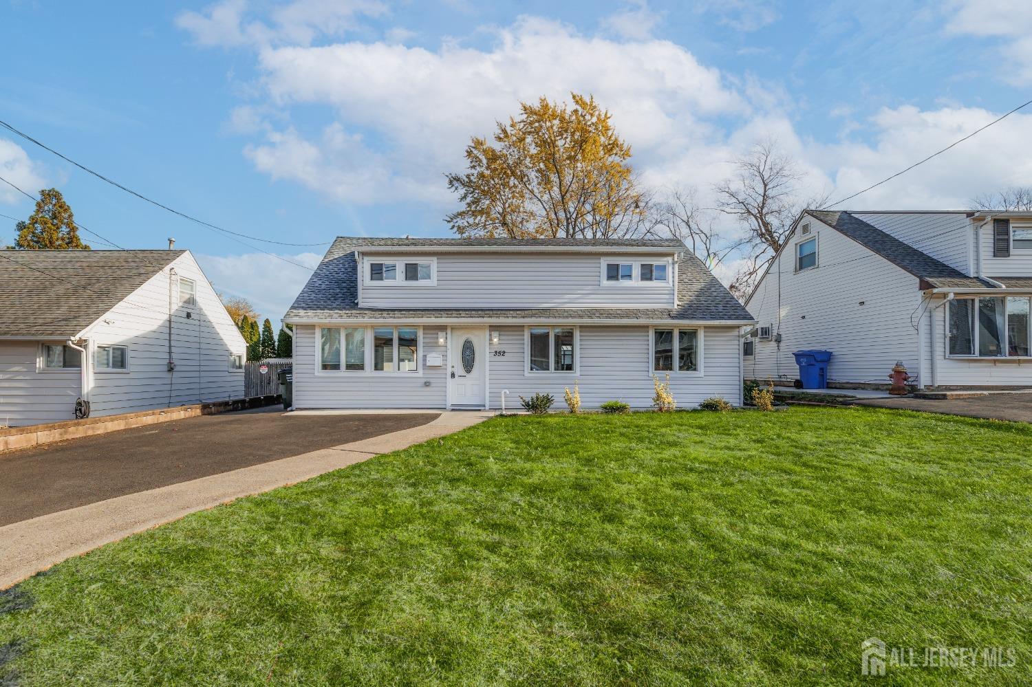
<svg viewBox="0 0 1032 687"><path fill-rule="evenodd" d="M0 455L0 526L419 427L439 413L202 416Z"/></svg>

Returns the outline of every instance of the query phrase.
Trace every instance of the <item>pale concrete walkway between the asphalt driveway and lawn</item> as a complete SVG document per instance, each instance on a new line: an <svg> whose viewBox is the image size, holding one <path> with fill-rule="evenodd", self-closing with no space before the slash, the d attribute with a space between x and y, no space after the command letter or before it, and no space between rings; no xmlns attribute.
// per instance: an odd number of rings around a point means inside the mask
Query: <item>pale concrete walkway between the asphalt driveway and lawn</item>
<svg viewBox="0 0 1032 687"><path fill-rule="evenodd" d="M109 498L0 527L0 589L130 534L241 496L303 482L381 453L451 434L493 413L448 412L437 420L373 438Z"/></svg>

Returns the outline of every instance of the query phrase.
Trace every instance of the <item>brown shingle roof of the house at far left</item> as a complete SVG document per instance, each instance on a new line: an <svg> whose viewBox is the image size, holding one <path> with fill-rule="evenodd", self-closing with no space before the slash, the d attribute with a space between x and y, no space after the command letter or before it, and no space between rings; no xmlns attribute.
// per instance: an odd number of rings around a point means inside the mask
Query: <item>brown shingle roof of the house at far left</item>
<svg viewBox="0 0 1032 687"><path fill-rule="evenodd" d="M186 251L0 251L0 336L72 336Z"/></svg>

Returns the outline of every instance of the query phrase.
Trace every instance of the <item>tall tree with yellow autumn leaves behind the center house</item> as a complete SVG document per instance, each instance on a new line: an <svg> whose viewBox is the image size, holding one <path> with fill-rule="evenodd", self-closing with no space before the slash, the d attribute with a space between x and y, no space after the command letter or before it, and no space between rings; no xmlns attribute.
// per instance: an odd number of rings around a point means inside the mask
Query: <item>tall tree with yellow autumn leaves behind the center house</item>
<svg viewBox="0 0 1032 687"><path fill-rule="evenodd" d="M463 207L446 221L464 237L620 238L643 233L646 198L631 146L591 96L520 103L492 141L474 137L467 169L448 174Z"/></svg>

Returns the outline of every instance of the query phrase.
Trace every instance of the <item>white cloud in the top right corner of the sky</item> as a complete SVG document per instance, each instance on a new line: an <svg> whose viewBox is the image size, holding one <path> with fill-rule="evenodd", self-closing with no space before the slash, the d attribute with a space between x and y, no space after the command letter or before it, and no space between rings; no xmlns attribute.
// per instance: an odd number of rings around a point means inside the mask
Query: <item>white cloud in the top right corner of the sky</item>
<svg viewBox="0 0 1032 687"><path fill-rule="evenodd" d="M1006 65L1002 80L1032 84L1032 3L1027 0L955 0L946 31L955 35L1003 39L999 48Z"/></svg>

